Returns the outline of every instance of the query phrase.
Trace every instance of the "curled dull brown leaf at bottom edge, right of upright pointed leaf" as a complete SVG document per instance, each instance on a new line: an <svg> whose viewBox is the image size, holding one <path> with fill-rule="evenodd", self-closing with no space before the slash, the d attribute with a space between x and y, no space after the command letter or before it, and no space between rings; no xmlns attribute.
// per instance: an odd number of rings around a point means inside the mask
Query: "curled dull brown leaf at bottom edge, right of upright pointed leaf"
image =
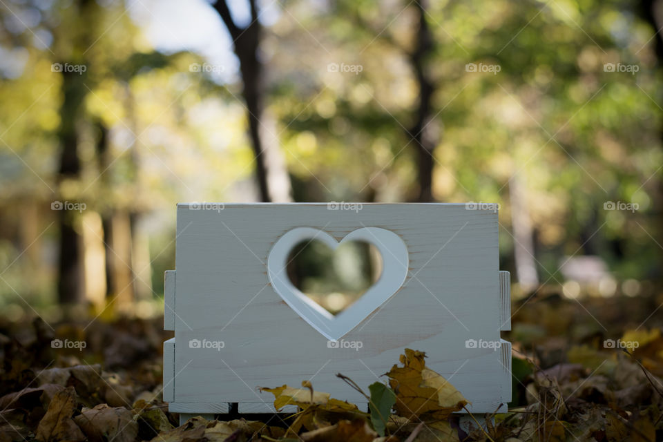
<svg viewBox="0 0 663 442"><path fill-rule="evenodd" d="M133 420L133 413L124 407L108 407L102 403L84 408L74 421L93 442L133 442L138 435L138 423Z"/></svg>

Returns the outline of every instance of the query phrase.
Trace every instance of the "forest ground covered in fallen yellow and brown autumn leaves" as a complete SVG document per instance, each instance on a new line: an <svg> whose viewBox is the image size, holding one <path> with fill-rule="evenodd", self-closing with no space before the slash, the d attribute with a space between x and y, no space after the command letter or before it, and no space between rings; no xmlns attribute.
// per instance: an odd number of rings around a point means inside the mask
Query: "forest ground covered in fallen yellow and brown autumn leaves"
<svg viewBox="0 0 663 442"><path fill-rule="evenodd" d="M504 336L514 349L509 412L463 422L463 392L407 349L383 383L338 376L365 394L369 410L302 380L261 386L277 408L297 405L296 414L179 425L162 402L161 349L172 332L159 318L0 320L0 442L662 441L661 301L553 294L517 302Z"/></svg>

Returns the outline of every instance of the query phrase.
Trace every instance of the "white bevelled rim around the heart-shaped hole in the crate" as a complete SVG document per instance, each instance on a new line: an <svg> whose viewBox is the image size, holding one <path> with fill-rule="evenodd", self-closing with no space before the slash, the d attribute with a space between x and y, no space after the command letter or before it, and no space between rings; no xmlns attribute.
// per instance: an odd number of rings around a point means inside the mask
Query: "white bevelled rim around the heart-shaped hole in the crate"
<svg viewBox="0 0 663 442"><path fill-rule="evenodd" d="M297 289L287 276L289 253L296 244L304 240L320 240L332 249L346 241L373 244L382 256L381 276L361 298L334 316ZM338 340L401 288L407 276L409 262L405 242L396 233L386 229L363 227L348 233L338 242L325 231L296 227L281 236L269 251L267 274L273 289L291 309L327 339Z"/></svg>

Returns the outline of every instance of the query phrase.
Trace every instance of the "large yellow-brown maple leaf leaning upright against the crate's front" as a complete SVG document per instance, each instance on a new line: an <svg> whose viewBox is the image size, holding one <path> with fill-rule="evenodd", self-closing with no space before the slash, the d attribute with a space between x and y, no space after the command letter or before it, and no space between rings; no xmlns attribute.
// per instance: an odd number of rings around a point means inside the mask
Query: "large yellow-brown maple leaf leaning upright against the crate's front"
<svg viewBox="0 0 663 442"><path fill-rule="evenodd" d="M445 420L453 412L463 409L468 401L443 376L425 366L424 352L405 349L401 355L403 367L394 365L387 376L396 392L396 412L412 419L430 414Z"/></svg>

